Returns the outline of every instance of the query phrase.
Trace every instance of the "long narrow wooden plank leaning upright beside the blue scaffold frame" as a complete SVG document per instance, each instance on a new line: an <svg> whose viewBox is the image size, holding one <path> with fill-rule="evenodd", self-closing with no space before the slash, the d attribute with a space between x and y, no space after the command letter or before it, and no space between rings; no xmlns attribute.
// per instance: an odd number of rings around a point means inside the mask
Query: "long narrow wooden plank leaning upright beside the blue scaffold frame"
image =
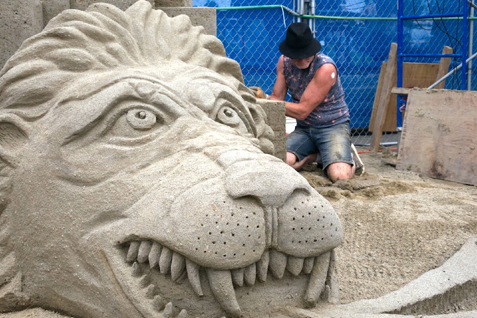
<svg viewBox="0 0 477 318"><path fill-rule="evenodd" d="M379 144L383 135L383 127L385 123L385 116L389 109L389 100L391 98L391 89L393 88L393 80L397 78L397 43L391 43L389 50L388 65L386 67L386 74L383 80L383 88L378 103L378 110L376 112L376 121L373 126L373 135L371 136L370 149L373 152L379 150Z"/></svg>

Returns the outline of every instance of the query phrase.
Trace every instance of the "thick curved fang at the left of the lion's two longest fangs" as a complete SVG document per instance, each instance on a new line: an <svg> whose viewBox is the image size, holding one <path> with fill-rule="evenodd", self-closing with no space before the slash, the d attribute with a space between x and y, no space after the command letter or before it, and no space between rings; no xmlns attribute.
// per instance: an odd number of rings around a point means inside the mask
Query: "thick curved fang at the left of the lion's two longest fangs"
<svg viewBox="0 0 477 318"><path fill-rule="evenodd" d="M207 268L206 272L209 278L210 289L222 309L227 313L227 316L232 318L240 317L240 307L232 285L230 270Z"/></svg>

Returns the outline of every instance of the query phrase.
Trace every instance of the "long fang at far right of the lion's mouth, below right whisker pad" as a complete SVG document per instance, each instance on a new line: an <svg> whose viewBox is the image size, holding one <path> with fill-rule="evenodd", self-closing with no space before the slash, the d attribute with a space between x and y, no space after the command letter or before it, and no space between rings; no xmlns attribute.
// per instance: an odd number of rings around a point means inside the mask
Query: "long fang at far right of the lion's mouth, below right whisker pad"
<svg viewBox="0 0 477 318"><path fill-rule="evenodd" d="M323 253L316 257L315 266L310 274L310 281L305 294L305 301L308 306L313 307L318 302L319 296L324 290L326 275L328 274L330 252Z"/></svg>

